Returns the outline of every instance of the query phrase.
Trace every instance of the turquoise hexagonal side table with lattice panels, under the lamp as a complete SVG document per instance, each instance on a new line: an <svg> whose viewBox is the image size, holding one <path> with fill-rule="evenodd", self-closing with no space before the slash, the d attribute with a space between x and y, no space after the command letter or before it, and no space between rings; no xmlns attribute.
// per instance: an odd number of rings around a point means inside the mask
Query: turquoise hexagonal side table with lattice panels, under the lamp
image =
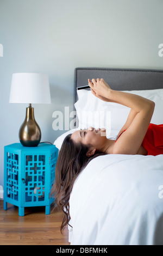
<svg viewBox="0 0 163 256"><path fill-rule="evenodd" d="M18 206L24 216L28 206L46 206L50 214L54 198L51 188L55 179L58 149L46 143L23 147L20 143L4 147L4 209L7 203Z"/></svg>

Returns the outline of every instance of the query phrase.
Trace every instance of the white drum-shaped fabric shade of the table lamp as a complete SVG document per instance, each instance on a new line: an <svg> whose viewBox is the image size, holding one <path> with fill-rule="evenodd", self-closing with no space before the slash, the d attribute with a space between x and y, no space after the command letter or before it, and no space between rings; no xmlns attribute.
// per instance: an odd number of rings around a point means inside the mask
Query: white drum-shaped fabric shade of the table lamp
<svg viewBox="0 0 163 256"><path fill-rule="evenodd" d="M12 75L10 103L51 103L48 75L16 73Z"/></svg>

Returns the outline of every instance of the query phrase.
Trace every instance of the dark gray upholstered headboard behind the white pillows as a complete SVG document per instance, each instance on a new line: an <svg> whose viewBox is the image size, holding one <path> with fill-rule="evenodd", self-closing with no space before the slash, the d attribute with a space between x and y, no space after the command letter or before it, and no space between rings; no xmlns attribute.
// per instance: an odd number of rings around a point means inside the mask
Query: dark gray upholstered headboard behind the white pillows
<svg viewBox="0 0 163 256"><path fill-rule="evenodd" d="M74 102L77 101L77 87L86 86L90 78L104 78L115 90L149 90L163 88L163 70L76 68L74 70Z"/></svg>

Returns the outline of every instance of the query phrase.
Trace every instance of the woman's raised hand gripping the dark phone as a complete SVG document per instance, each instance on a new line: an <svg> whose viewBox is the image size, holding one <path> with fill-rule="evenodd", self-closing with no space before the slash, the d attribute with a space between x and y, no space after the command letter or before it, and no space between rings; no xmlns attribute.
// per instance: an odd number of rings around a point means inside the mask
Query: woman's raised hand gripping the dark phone
<svg viewBox="0 0 163 256"><path fill-rule="evenodd" d="M93 95L103 101L109 101L108 95L111 89L109 85L103 80L103 78L101 80L99 80L99 78L97 78L97 80L92 79L92 82L89 79L88 82Z"/></svg>

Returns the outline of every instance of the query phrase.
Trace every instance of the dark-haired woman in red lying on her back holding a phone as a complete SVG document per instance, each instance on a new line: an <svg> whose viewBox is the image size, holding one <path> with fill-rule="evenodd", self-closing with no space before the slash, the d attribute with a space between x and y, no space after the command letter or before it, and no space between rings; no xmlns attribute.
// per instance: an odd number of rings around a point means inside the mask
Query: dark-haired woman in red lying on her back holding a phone
<svg viewBox="0 0 163 256"><path fill-rule="evenodd" d="M104 154L163 154L163 125L150 124L155 103L144 97L112 90L103 80L89 80L92 94L103 101L116 102L131 108L117 140L108 139L105 129L89 127L68 135L59 153L55 168L55 202L65 213L61 230L70 221L69 199L74 181L94 157ZM162 135L162 136L161 136Z"/></svg>

